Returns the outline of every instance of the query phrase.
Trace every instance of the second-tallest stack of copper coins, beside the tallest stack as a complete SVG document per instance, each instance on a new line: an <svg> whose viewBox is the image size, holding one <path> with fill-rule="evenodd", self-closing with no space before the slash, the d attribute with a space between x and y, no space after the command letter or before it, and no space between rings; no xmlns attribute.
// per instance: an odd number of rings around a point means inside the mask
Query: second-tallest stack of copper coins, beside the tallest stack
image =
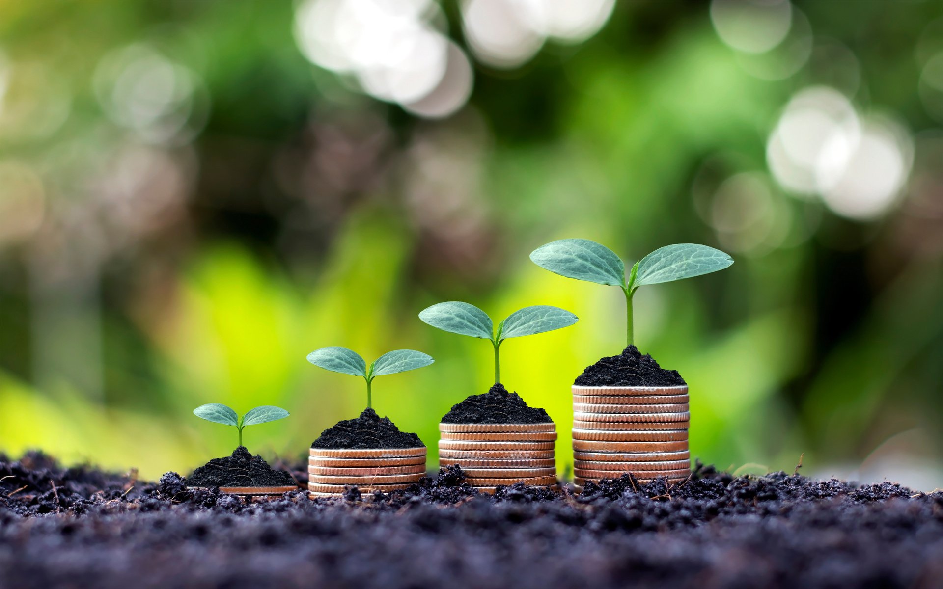
<svg viewBox="0 0 943 589"><path fill-rule="evenodd" d="M550 423L439 423L438 465L458 465L466 483L484 493L498 486L527 483L556 485L554 441Z"/></svg>

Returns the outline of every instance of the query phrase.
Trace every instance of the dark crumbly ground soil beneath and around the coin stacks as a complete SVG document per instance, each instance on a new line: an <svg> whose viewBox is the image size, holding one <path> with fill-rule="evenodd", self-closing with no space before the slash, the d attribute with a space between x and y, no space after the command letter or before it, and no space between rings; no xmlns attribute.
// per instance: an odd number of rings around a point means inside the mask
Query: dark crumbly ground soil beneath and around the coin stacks
<svg viewBox="0 0 943 589"><path fill-rule="evenodd" d="M292 472L304 482L304 463ZM357 499L356 492L350 499ZM579 497L405 492L244 503L0 455L0 587L939 587L943 493L698 466Z"/></svg>

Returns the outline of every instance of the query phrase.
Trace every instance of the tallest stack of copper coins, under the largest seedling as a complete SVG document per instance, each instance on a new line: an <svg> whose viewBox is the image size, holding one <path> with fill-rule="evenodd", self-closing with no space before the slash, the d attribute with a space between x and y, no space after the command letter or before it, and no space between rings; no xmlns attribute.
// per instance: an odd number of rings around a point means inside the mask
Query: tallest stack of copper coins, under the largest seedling
<svg viewBox="0 0 943 589"><path fill-rule="evenodd" d="M573 473L587 481L632 473L639 482L690 474L685 386L576 386L573 391Z"/></svg>

